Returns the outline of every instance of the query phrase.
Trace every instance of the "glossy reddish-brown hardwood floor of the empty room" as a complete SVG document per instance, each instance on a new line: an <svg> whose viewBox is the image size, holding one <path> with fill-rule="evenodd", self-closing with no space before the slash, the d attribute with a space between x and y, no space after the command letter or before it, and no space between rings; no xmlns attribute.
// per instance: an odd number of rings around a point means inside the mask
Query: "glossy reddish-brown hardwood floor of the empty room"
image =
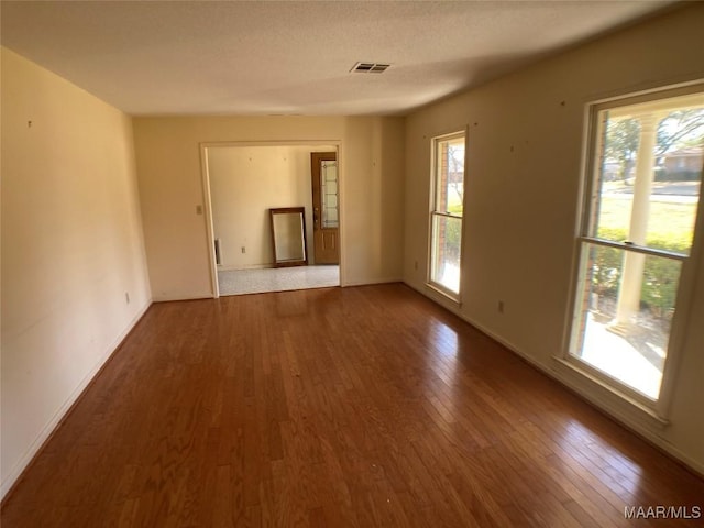
<svg viewBox="0 0 704 528"><path fill-rule="evenodd" d="M403 285L157 304L11 527L617 527L704 481ZM701 524L698 526L702 526Z"/></svg>

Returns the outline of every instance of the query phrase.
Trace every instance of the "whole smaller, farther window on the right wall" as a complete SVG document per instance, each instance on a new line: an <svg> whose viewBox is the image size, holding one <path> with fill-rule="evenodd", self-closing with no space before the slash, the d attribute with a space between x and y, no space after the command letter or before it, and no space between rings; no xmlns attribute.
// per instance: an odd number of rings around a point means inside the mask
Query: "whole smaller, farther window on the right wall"
<svg viewBox="0 0 704 528"><path fill-rule="evenodd" d="M430 285L459 300L464 204L464 133L432 140Z"/></svg>

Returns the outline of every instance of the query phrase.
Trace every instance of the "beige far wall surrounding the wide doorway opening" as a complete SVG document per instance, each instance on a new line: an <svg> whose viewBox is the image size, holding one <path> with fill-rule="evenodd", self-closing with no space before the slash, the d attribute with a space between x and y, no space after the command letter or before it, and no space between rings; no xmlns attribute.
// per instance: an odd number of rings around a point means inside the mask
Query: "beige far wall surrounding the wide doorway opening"
<svg viewBox="0 0 704 528"><path fill-rule="evenodd" d="M340 142L342 284L402 278L404 119L136 118L134 138L155 300L212 295L206 218L196 213L200 144L211 142Z"/></svg>

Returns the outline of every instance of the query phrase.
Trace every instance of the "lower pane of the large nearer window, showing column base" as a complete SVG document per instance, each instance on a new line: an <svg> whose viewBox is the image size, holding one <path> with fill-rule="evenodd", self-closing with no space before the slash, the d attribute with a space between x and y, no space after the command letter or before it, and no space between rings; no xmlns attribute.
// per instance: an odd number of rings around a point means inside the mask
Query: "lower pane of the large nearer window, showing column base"
<svg viewBox="0 0 704 528"><path fill-rule="evenodd" d="M583 250L572 353L657 399L682 263L586 242Z"/></svg>

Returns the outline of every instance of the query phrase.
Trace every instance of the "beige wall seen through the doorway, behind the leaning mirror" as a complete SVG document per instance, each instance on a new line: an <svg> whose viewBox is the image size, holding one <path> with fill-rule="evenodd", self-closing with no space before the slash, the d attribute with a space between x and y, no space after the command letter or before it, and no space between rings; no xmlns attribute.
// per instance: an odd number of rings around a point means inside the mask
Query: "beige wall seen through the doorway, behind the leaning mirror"
<svg viewBox="0 0 704 528"><path fill-rule="evenodd" d="M224 146L208 148L213 237L220 239L220 270L267 267L274 263L268 209L306 208L306 238L312 264L310 153L337 147ZM246 253L242 253L242 248Z"/></svg>

